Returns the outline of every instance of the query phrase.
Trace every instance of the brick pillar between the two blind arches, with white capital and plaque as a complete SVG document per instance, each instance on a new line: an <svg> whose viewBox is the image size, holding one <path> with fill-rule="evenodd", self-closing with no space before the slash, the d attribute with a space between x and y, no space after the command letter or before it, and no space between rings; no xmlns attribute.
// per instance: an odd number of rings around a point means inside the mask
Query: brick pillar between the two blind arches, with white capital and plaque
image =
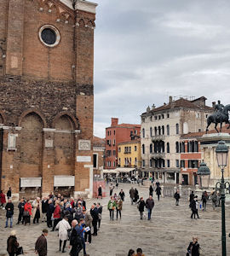
<svg viewBox="0 0 230 256"><path fill-rule="evenodd" d="M55 173L55 129L43 128L43 183L42 196L49 195L54 191Z"/></svg>

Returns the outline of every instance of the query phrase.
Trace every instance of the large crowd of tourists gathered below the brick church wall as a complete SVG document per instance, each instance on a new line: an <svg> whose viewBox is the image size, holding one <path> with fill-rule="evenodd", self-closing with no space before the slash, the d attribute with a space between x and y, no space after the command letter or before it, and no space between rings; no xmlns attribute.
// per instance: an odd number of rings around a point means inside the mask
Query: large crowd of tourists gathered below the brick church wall
<svg viewBox="0 0 230 256"><path fill-rule="evenodd" d="M3 194L3 191L1 191L1 194ZM123 195L123 193L121 193L121 195ZM5 228L7 228L9 224L10 228L12 228L14 204L10 197L7 204L3 207L6 210ZM70 241L72 256L77 256L82 249L83 255L89 255L86 253L85 244L91 243L92 236L98 235L98 230L100 230L101 226L101 204L94 203L90 209L87 210L86 202L83 198L78 198L77 201L74 201L73 198L64 198L64 196L60 194L54 195L51 192L47 197L44 197L43 200L39 197L32 202L24 198L20 199L18 209L19 215L17 224L31 224L31 218L33 224L39 224L40 220L46 222L47 227L51 229L50 231L58 230L60 252L66 253L66 243L68 240ZM91 232L91 230L93 232ZM48 232L48 229L44 229L42 236L39 236L37 239L35 251L39 256L47 255L46 236L48 236ZM7 250L10 256L18 255L19 251L23 252L22 247L20 247L17 242L15 230L11 231Z"/></svg>

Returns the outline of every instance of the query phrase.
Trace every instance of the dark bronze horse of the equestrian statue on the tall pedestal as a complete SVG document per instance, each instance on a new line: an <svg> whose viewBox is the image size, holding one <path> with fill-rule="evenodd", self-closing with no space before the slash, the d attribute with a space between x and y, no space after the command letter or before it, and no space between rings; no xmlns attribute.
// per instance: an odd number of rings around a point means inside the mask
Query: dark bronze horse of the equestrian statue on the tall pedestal
<svg viewBox="0 0 230 256"><path fill-rule="evenodd" d="M219 131L216 128L218 124L221 124L221 128L222 128L222 123L228 124L227 129L229 129L230 128L230 119L228 116L229 111L230 111L230 104L228 104L224 108L222 108L221 111L210 114L207 118L206 133L207 133L207 131L209 131L208 128L211 123L215 124L215 129L218 133L219 133ZM221 129L220 129L220 131L221 131Z"/></svg>

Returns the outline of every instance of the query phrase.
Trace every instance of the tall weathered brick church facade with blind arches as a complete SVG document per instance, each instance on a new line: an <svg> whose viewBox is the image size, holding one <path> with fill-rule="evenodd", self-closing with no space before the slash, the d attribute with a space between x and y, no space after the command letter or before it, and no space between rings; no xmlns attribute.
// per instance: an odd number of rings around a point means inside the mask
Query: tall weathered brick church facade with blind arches
<svg viewBox="0 0 230 256"><path fill-rule="evenodd" d="M0 1L0 186L92 195L95 3Z"/></svg>

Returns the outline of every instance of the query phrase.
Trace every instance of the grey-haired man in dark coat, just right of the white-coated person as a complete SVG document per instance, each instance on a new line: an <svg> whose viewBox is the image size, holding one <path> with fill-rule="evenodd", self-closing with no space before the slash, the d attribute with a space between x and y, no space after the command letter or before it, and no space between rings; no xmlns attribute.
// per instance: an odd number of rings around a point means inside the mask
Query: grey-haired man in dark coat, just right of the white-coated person
<svg viewBox="0 0 230 256"><path fill-rule="evenodd" d="M77 230L76 230L77 225L78 225L77 219L73 219L72 220L72 232L71 232L71 237L70 237L70 246L69 246L69 247L72 247L72 249L70 251L71 256L78 256L78 253L83 248L82 239L78 235Z"/></svg>

